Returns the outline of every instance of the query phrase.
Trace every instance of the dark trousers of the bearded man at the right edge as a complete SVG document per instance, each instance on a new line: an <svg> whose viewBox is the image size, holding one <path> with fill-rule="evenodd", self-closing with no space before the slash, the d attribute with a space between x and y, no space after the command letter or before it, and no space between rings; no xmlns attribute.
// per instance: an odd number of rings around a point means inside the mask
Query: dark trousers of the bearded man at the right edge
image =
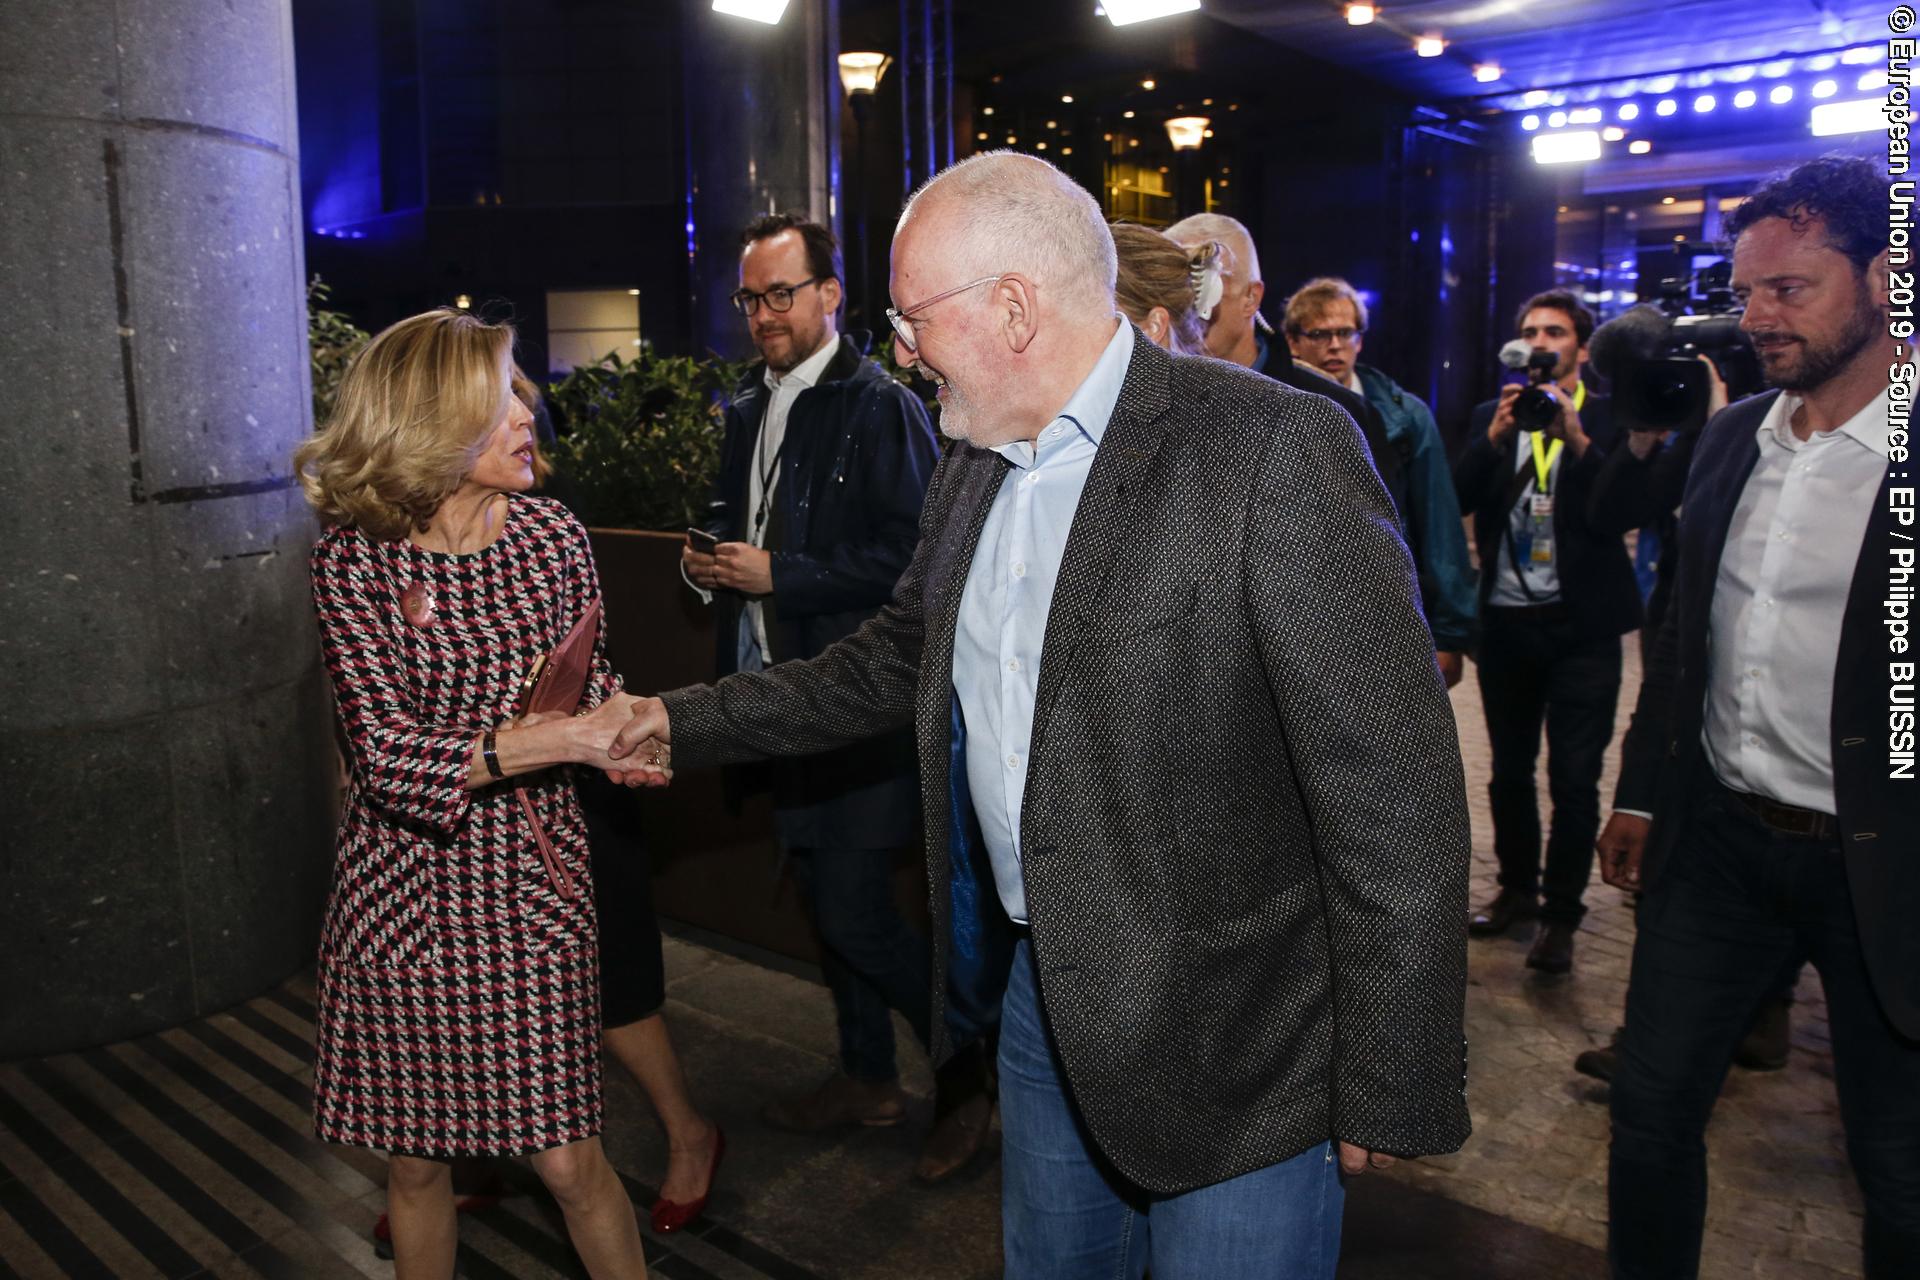
<svg viewBox="0 0 1920 1280"><path fill-rule="evenodd" d="M1778 835L1718 787L1640 904L1613 1077L1615 1276L1699 1270L1707 1117L1755 1009L1797 956L1826 988L1839 1117L1866 1197L1866 1274L1920 1276L1920 1042L1874 1000L1839 844Z"/></svg>

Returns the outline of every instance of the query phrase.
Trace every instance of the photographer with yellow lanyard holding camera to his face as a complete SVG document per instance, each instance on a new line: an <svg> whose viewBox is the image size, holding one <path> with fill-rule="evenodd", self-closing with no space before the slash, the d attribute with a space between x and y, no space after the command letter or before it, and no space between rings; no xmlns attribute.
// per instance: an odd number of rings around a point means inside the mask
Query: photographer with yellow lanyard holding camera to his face
<svg viewBox="0 0 1920 1280"><path fill-rule="evenodd" d="M1488 796L1500 892L1475 912L1476 936L1542 917L1530 969L1567 973L1599 831L1599 768L1620 695L1620 635L1640 626L1640 587L1619 532L1588 518L1592 486L1617 445L1605 397L1580 382L1594 313L1567 292L1538 294L1501 363L1526 386L1473 411L1453 466L1480 553L1480 706L1494 748ZM1534 762L1548 735L1553 827L1542 906Z"/></svg>

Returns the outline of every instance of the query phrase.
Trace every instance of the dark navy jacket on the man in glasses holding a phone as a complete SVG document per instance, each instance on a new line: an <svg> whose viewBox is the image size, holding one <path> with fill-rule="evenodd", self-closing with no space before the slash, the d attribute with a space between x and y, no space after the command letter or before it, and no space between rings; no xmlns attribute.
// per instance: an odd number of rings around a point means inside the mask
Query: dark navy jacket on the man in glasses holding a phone
<svg viewBox="0 0 1920 1280"><path fill-rule="evenodd" d="M774 595L772 662L812 658L893 599L920 539L920 505L939 447L920 399L843 336L820 382L787 413L780 484L768 516ZM766 365L755 363L726 411L726 443L707 532L747 541L749 474L766 415ZM714 595L714 664L739 662L745 599ZM918 839L914 752L904 735L781 762L774 775L780 835L803 848L893 848Z"/></svg>

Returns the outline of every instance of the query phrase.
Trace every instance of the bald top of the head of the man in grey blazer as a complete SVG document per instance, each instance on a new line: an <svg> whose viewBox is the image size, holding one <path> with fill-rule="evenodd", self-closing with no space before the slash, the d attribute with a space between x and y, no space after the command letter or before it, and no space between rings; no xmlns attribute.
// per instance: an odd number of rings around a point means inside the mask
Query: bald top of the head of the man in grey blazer
<svg viewBox="0 0 1920 1280"><path fill-rule="evenodd" d="M952 282L1020 273L1064 309L1114 313L1114 236L1098 201L1037 155L983 152L929 178L895 230ZM916 299L895 299L912 305Z"/></svg>

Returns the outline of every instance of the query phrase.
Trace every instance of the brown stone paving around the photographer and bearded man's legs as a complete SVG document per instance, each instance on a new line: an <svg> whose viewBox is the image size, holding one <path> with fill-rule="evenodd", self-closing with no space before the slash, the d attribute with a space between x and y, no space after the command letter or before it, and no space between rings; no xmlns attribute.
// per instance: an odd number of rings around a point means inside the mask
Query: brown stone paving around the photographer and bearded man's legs
<svg viewBox="0 0 1920 1280"><path fill-rule="evenodd" d="M1619 731L1640 685L1636 637L1626 643ZM1496 890L1490 752L1473 664L1453 691L1467 794L1473 806L1473 900ZM1609 812L1619 733L1601 779ZM1546 796L1546 773L1540 777ZM1469 944L1467 1094L1475 1136L1446 1159L1405 1165L1398 1176L1530 1226L1605 1247L1607 1090L1574 1075L1574 1055L1605 1044L1626 994L1634 919L1626 894L1594 875L1574 971L1536 975L1523 965L1532 927ZM1860 1194L1847 1171L1834 1094L1826 1000L1818 977L1801 977L1793 1055L1786 1071L1734 1069L1707 1134L1709 1217L1701 1274L1859 1276Z"/></svg>

